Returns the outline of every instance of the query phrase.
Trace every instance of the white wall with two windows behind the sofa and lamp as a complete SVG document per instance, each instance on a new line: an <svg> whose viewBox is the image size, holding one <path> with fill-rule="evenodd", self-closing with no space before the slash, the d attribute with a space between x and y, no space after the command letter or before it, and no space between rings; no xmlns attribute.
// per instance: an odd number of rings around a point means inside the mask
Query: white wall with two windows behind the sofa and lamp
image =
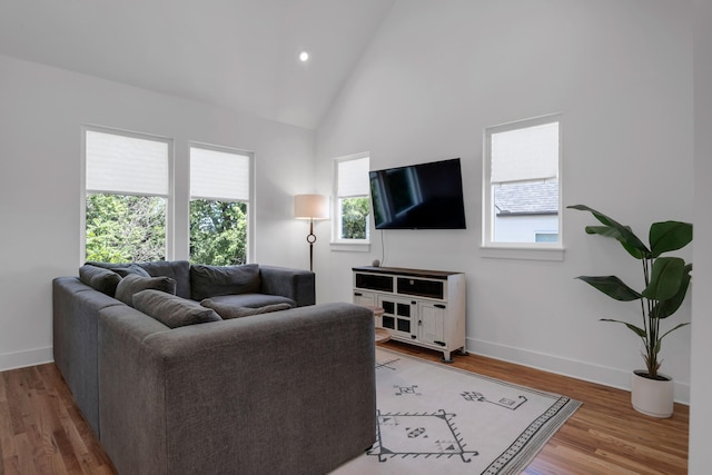
<svg viewBox="0 0 712 475"><path fill-rule="evenodd" d="M83 123L174 138L182 196L189 140L254 151L256 261L308 268L291 216L293 195L313 190L314 131L0 56L0 370L52 359L51 280L82 259Z"/></svg>

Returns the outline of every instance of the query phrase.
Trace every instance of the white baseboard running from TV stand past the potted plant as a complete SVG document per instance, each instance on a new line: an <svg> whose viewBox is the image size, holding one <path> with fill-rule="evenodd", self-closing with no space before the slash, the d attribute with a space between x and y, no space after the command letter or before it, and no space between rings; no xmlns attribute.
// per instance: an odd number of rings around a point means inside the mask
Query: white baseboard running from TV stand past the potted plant
<svg viewBox="0 0 712 475"><path fill-rule="evenodd" d="M528 366L590 383L631 390L630 372L562 358L545 353L530 352L476 338L467 338L466 344L467 352L474 353L475 355L487 356L490 358ZM675 403L690 405L689 383L675 382Z"/></svg>

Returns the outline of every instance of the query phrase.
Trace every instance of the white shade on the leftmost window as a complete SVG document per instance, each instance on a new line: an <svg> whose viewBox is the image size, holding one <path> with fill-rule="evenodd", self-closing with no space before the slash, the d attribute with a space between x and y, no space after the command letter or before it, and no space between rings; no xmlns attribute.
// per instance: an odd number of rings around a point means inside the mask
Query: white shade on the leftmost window
<svg viewBox="0 0 712 475"><path fill-rule="evenodd" d="M87 191L168 195L169 142L87 130Z"/></svg>

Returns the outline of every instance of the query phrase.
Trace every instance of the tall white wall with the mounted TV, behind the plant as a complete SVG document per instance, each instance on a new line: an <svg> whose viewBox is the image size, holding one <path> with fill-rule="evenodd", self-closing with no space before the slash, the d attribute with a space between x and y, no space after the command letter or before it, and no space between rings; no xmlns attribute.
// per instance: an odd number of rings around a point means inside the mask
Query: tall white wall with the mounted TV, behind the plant
<svg viewBox="0 0 712 475"><path fill-rule="evenodd" d="M574 277L642 287L639 264L586 236L593 218L574 210L563 261L484 258L483 128L562 112L565 205L599 208L643 239L652 221L692 220L691 21L688 3L663 0L397 1L317 131L318 187L330 189L330 160L348 154L369 151L372 169L461 157L467 229L384 231L385 265L466 273L468 350L627 388L639 339L599 318L637 319L639 307ZM350 300L350 268L382 258L379 232L369 253L318 248L319 299ZM674 319L690 314L688 303ZM690 328L662 357L686 402Z"/></svg>

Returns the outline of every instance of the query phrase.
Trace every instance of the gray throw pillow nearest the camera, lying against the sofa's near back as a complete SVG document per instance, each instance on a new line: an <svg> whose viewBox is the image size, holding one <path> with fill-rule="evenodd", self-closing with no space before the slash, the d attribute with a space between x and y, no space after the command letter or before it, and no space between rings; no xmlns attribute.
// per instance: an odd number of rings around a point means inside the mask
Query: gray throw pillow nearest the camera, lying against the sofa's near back
<svg viewBox="0 0 712 475"><path fill-rule="evenodd" d="M135 294L134 307L169 328L221 320L211 308L160 290L141 290Z"/></svg>

